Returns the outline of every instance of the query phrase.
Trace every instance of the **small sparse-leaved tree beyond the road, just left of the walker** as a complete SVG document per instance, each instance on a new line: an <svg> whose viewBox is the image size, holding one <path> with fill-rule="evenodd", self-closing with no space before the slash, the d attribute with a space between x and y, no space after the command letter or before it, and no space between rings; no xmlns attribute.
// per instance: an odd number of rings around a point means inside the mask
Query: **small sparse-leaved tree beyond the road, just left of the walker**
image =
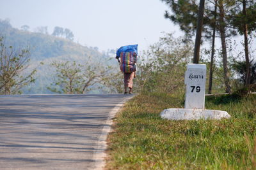
<svg viewBox="0 0 256 170"><path fill-rule="evenodd" d="M100 64L90 66L77 62L53 62L56 69L56 80L53 87L47 87L52 92L65 94L84 94L96 83L108 80L111 67L102 67Z"/></svg>

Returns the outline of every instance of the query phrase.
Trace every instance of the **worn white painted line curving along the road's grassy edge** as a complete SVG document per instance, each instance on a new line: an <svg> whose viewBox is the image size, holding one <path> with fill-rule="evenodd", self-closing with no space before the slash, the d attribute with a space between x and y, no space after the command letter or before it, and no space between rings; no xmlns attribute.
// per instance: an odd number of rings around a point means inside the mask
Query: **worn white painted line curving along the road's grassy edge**
<svg viewBox="0 0 256 170"><path fill-rule="evenodd" d="M132 99L132 97L134 96L136 95L126 98L124 99L124 101L116 104L115 108L113 108L109 112L108 120L106 121L97 142L96 152L93 153L93 160L95 160L95 167L93 169L101 170L104 169L104 167L106 166L105 158L107 157L106 149L108 148L106 140L108 138L109 132L113 131L113 129L111 128L113 124L113 118L115 118L115 115L116 113L118 113L120 108L124 106L125 102L129 101L129 99Z"/></svg>

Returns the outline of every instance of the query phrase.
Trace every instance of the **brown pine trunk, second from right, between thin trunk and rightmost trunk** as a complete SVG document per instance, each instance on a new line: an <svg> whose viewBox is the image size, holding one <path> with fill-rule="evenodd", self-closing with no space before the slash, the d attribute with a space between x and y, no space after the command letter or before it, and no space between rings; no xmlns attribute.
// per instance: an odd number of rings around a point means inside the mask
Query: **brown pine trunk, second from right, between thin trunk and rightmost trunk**
<svg viewBox="0 0 256 170"><path fill-rule="evenodd" d="M223 69L224 69L224 81L225 81L225 91L227 93L231 92L231 87L229 85L229 74L228 74L228 60L227 60L227 46L226 46L226 35L225 35L225 13L223 4L219 4L220 9L220 37L221 37L221 46L222 46L222 59L223 59Z"/></svg>

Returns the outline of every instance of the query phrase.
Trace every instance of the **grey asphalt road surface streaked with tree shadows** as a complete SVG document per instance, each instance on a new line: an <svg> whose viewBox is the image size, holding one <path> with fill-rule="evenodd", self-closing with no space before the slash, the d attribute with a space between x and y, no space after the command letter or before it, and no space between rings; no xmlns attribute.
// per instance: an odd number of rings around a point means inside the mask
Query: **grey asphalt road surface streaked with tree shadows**
<svg viewBox="0 0 256 170"><path fill-rule="evenodd" d="M99 169L103 131L131 97L0 96L0 169Z"/></svg>

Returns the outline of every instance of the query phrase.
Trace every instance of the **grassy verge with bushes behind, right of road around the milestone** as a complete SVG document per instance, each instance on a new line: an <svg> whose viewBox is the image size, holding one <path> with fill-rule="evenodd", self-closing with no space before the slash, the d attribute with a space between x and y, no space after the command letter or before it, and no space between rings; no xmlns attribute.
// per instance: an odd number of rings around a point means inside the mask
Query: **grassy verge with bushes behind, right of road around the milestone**
<svg viewBox="0 0 256 170"><path fill-rule="evenodd" d="M114 121L106 169L256 169L255 79L251 76L246 85L245 62L237 62L239 57L228 60L232 92L223 94L222 54L216 53L211 90L217 95L205 97L206 109L227 111L231 118L175 121L159 116L166 108L184 108L191 46L186 38L165 34L140 56L134 87L140 94ZM203 55L200 63L208 67L207 52Z"/></svg>

